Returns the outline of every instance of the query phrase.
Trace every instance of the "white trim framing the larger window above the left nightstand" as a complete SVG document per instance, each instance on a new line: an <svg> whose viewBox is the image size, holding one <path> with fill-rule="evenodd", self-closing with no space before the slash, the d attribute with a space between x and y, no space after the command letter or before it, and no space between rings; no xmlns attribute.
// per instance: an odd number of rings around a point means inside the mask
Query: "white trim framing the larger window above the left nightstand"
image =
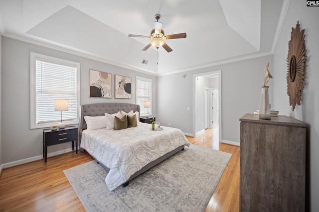
<svg viewBox="0 0 319 212"><path fill-rule="evenodd" d="M75 66L76 67L76 94L77 94L77 106L80 106L81 103L81 64L73 61L68 61L60 58L54 58L47 55L41 55L38 53L30 52L30 129L36 129L36 128L45 128L52 126L52 123L43 123L43 124L36 124L36 107L35 107L35 98L36 98L36 84L35 84L35 60L40 59L43 61L48 61L51 63L56 64L63 64L66 66ZM80 110L77 107L77 116L76 120L73 121L65 121L66 125L73 125L73 124L79 124L79 117L80 117Z"/></svg>

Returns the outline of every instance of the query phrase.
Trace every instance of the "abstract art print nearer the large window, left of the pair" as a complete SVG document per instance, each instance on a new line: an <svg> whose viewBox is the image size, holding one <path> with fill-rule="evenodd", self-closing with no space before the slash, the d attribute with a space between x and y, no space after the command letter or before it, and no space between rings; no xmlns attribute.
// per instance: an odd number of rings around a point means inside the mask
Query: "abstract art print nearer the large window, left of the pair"
<svg viewBox="0 0 319 212"><path fill-rule="evenodd" d="M112 98L112 74L90 70L90 97Z"/></svg>

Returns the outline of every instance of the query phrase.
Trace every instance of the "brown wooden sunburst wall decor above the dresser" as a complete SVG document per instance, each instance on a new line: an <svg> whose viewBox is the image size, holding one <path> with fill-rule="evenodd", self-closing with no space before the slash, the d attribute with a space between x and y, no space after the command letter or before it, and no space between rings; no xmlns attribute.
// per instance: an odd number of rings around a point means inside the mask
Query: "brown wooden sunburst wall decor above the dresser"
<svg viewBox="0 0 319 212"><path fill-rule="evenodd" d="M305 86L305 71L306 71L306 46L305 46L305 29L300 30L299 21L296 28L292 28L291 40L288 43L287 56L287 93L289 103L293 106L293 111L296 104L301 105L301 94Z"/></svg>

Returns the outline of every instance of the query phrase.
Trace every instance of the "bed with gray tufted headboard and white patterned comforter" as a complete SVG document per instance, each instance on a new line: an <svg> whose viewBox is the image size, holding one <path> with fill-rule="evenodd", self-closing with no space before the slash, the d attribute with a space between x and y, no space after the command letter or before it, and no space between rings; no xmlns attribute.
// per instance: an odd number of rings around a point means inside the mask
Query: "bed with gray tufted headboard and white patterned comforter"
<svg viewBox="0 0 319 212"><path fill-rule="evenodd" d="M189 146L183 133L175 128L162 127L162 131L151 131L150 124L141 122L138 122L137 127L122 130L91 127L91 120L101 120L105 113L106 117L109 117L109 114L119 112L138 117L140 106L130 103L95 103L81 106L80 150L86 150L108 169L105 182L111 191L120 185L127 186L138 175L183 150L184 145ZM109 123L109 119L107 120Z"/></svg>

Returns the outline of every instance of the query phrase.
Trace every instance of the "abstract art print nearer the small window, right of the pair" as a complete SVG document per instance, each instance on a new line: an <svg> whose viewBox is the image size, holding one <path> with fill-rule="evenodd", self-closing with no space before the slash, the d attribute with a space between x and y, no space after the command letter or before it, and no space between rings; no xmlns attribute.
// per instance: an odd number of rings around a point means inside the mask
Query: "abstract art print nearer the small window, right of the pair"
<svg viewBox="0 0 319 212"><path fill-rule="evenodd" d="M127 76L115 75L115 98L132 98L132 78Z"/></svg>

